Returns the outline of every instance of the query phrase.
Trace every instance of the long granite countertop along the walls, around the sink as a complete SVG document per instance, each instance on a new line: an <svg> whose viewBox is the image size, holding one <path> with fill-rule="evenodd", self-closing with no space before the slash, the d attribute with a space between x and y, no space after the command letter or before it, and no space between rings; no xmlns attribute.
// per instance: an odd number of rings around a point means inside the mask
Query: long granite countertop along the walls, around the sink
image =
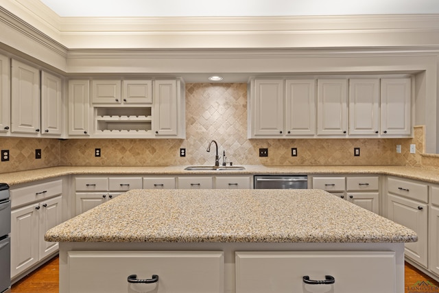
<svg viewBox="0 0 439 293"><path fill-rule="evenodd" d="M193 174L383 174L439 183L439 171L402 166L264 166L244 165L245 170L187 171L182 166L94 167L60 166L0 174L0 182L10 186L64 175L193 175Z"/></svg>

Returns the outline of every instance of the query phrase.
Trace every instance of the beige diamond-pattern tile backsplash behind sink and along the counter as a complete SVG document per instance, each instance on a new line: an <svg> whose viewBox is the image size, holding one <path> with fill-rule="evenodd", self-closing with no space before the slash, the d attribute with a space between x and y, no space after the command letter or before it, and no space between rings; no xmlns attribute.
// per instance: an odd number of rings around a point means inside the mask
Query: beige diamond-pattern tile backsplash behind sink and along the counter
<svg viewBox="0 0 439 293"><path fill-rule="evenodd" d="M0 149L10 150L10 161L0 162L0 173L56 165L158 166L211 165L215 147L226 151L234 165L410 165L438 166L439 157L408 152L416 143L423 150L423 127L414 139L247 139L247 84L186 84L186 139L26 139L0 138ZM396 154L401 144L402 154ZM35 149L43 158L35 159ZM95 148L102 150L95 157ZM180 157L180 148L186 148ZM268 148L268 157L259 157ZM297 148L298 156L291 156ZM360 156L353 149L360 148Z"/></svg>

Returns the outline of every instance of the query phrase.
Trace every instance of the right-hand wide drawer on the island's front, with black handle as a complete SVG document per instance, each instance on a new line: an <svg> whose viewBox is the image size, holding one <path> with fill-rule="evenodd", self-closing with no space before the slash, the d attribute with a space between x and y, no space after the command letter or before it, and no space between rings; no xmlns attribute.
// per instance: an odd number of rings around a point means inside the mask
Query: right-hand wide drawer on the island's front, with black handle
<svg viewBox="0 0 439 293"><path fill-rule="evenodd" d="M391 293L396 292L392 251L237 252L236 293ZM309 285L331 276L335 283Z"/></svg>

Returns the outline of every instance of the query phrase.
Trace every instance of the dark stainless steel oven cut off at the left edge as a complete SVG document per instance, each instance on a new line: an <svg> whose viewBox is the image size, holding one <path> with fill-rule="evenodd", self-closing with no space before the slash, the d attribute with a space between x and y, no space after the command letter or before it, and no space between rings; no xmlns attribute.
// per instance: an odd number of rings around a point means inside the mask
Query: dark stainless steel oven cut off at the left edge
<svg viewBox="0 0 439 293"><path fill-rule="evenodd" d="M0 183L0 292L10 292L11 287L11 201L9 186Z"/></svg>

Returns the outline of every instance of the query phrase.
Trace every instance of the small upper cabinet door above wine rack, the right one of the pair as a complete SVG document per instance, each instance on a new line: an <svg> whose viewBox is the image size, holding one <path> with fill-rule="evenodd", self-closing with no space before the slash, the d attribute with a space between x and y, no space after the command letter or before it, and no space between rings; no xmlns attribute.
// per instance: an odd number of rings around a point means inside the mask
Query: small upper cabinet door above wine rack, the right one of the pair
<svg viewBox="0 0 439 293"><path fill-rule="evenodd" d="M123 104L152 104L151 80L123 80Z"/></svg>

